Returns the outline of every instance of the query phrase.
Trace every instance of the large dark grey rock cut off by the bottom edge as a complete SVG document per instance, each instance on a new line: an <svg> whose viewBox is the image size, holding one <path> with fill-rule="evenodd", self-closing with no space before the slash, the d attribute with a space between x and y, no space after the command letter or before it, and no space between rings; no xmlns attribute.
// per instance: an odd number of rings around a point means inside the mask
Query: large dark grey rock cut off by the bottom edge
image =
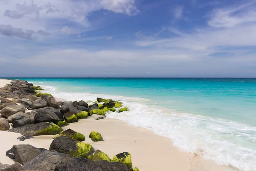
<svg viewBox="0 0 256 171"><path fill-rule="evenodd" d="M39 154L26 162L22 168L35 171L130 171L128 166L122 163L110 163L105 160L93 162L53 151Z"/></svg>

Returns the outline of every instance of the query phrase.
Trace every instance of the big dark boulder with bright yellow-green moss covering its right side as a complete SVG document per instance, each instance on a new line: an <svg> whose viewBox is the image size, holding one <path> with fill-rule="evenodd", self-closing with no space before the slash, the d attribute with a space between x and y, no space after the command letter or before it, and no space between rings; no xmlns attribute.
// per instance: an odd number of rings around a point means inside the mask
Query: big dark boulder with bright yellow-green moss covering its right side
<svg viewBox="0 0 256 171"><path fill-rule="evenodd" d="M59 136L55 138L52 141L49 150L55 150L60 153L70 154L73 157L81 158L87 158L95 152L90 144L79 142L67 136Z"/></svg>

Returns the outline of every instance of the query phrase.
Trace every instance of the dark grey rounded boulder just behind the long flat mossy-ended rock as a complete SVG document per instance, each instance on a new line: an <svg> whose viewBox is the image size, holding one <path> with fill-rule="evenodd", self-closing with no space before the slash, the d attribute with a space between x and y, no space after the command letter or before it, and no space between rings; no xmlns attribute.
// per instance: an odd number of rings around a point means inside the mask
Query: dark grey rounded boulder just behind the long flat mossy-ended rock
<svg viewBox="0 0 256 171"><path fill-rule="evenodd" d="M54 122L57 123L59 121L64 120L64 116L57 109L53 107L44 107L41 109L35 110L35 121L36 122Z"/></svg>

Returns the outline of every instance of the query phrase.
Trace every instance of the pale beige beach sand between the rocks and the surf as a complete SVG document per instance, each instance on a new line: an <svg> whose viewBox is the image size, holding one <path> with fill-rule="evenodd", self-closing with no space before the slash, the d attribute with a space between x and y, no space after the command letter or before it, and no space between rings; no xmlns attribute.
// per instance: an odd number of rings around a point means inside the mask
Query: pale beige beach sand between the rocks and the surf
<svg viewBox="0 0 256 171"><path fill-rule="evenodd" d="M63 100L56 99L58 101ZM110 158L123 151L131 153L133 166L137 166L140 171L217 171L220 169L231 171L231 168L202 159L200 154L189 154L180 151L172 145L171 139L157 135L151 130L129 125L121 120L108 118L100 120L93 118L81 119L79 122L70 123L63 129L68 128L84 134L86 137L84 142L93 145L95 149L104 151ZM105 141L92 142L88 136L90 131L93 130L102 133ZM55 137L49 135L35 136L35 138L20 142L17 140L17 137L20 136L19 133L8 133L7 131L3 133L3 131L0 131L0 136L6 138L5 142L0 142L1 147L4 147L0 150L0 162L4 164L14 163L11 159L5 157L5 152L12 145L30 144L37 148L49 149L52 138Z"/></svg>

